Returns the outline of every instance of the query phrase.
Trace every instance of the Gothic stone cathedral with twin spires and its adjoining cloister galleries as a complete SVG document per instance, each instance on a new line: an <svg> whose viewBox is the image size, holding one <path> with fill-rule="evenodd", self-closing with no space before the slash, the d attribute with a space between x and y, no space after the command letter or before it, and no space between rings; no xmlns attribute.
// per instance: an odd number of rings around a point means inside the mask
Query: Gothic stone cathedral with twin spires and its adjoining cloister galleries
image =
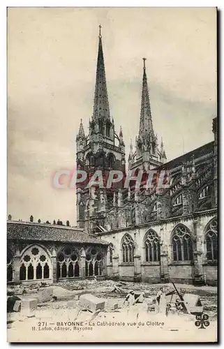
<svg viewBox="0 0 224 349"><path fill-rule="evenodd" d="M119 126L115 131L107 94L102 36L98 58L94 108L89 133L82 120L77 133L77 169L89 178L101 170L137 177L165 171L169 185L135 188L130 181L112 188L77 183L77 227L8 220L8 282L57 282L68 279L114 279L149 283L216 285L217 118L214 141L167 161L163 141L154 131L146 59L143 59L140 127L128 162Z"/></svg>

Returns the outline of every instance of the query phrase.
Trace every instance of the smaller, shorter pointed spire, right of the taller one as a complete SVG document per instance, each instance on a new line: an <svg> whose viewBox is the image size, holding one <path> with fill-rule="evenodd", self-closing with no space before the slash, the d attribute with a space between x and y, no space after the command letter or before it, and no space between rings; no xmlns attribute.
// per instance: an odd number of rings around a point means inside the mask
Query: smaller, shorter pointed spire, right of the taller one
<svg viewBox="0 0 224 349"><path fill-rule="evenodd" d="M145 68L146 58L143 58L143 80L142 80L142 104L140 114L140 137L144 138L146 135L154 135L154 130L151 120L151 107L149 101L149 89L147 84L147 73Z"/></svg>

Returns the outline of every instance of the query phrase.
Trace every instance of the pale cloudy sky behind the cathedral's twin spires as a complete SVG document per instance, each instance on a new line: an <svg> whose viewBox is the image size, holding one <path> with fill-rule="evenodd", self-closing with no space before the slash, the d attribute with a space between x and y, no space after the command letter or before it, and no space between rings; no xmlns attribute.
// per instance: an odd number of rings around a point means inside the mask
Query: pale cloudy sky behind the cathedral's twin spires
<svg viewBox="0 0 224 349"><path fill-rule="evenodd" d="M146 57L154 131L168 160L213 140L215 8L8 9L8 214L76 224L75 136L93 111L98 25L115 128L126 154L140 122ZM184 147L183 147L184 144Z"/></svg>

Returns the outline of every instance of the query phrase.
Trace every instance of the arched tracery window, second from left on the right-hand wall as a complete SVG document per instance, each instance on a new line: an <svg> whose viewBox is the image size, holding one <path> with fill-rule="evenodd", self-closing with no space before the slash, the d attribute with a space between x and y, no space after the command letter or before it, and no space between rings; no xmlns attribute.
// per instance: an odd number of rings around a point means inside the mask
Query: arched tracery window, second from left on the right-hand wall
<svg viewBox="0 0 224 349"><path fill-rule="evenodd" d="M144 257L146 262L160 261L160 242L154 230L149 230L144 239Z"/></svg>

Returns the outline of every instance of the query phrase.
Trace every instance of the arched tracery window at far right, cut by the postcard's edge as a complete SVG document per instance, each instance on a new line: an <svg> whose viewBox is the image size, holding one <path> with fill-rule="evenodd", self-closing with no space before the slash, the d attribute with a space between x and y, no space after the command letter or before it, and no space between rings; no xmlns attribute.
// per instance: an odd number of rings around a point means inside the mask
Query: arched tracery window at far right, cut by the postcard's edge
<svg viewBox="0 0 224 349"><path fill-rule="evenodd" d="M218 259L218 228L217 228L217 218L214 218L205 232L205 244L207 251L207 260L217 260Z"/></svg>

